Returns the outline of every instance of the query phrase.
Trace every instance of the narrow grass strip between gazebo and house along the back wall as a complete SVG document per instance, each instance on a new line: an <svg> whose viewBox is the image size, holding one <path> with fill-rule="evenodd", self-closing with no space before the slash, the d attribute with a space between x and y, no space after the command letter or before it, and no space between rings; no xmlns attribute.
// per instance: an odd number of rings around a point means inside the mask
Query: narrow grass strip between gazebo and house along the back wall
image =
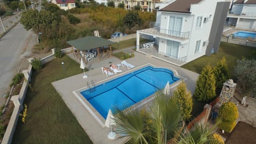
<svg viewBox="0 0 256 144"><path fill-rule="evenodd" d="M149 39L144 39L144 38L140 38L140 43L144 43L144 42L147 42L149 41ZM120 49L124 49L126 47L131 47L131 46L136 46L136 38L132 38L132 39L128 39L126 41L119 41L119 46L118 46L118 43L114 43L111 45L113 48L113 51L114 50L120 50Z"/></svg>

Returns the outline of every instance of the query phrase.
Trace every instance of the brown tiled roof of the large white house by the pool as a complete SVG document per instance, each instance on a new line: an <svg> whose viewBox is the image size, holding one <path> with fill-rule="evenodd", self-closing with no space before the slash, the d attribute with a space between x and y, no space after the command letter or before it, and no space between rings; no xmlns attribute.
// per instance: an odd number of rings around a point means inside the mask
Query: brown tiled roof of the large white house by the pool
<svg viewBox="0 0 256 144"><path fill-rule="evenodd" d="M177 0L165 6L160 11L190 13L190 5L197 4L203 0Z"/></svg>

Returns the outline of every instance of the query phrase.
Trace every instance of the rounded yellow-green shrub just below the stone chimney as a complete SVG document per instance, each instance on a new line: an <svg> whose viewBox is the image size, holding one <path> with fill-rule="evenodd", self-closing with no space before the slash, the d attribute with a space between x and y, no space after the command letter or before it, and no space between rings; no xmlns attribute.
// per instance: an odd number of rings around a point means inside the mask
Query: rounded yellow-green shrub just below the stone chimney
<svg viewBox="0 0 256 144"><path fill-rule="evenodd" d="M238 118L238 109L233 102L224 103L219 110L217 117L218 127L226 132L231 132L236 126L236 119Z"/></svg>

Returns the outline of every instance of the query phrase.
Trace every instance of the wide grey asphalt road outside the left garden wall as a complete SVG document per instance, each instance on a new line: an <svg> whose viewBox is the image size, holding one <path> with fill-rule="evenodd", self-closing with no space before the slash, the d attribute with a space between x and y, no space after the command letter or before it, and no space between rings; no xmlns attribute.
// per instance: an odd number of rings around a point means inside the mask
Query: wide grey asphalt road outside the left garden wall
<svg viewBox="0 0 256 144"><path fill-rule="evenodd" d="M31 32L18 23L0 39L0 106L3 105L3 94L9 89L12 77L18 73L22 62L21 54L26 50L26 41Z"/></svg>

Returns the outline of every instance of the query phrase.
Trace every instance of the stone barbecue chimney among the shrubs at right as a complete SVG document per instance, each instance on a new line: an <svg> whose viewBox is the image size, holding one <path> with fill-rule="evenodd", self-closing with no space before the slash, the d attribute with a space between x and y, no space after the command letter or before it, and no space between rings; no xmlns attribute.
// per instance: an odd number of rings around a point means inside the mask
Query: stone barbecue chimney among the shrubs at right
<svg viewBox="0 0 256 144"><path fill-rule="evenodd" d="M234 96L235 89L236 83L233 82L233 79L228 79L228 81L223 84L219 103L222 105L223 103L229 102Z"/></svg>

